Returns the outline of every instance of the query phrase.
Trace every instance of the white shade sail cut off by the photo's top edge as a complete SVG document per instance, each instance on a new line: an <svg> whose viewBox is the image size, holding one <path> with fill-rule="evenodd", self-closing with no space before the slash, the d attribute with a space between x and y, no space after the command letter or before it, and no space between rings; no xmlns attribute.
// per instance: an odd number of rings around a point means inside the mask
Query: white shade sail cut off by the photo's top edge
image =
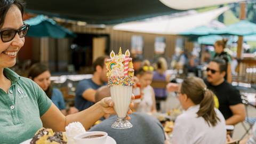
<svg viewBox="0 0 256 144"><path fill-rule="evenodd" d="M166 6L177 10L189 10L199 7L236 3L245 0L159 0Z"/></svg>

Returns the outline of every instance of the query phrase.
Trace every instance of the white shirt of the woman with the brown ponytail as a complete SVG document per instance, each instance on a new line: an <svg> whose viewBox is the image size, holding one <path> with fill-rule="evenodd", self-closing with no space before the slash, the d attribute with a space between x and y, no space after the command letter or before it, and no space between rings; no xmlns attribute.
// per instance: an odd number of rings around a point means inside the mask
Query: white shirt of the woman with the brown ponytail
<svg viewBox="0 0 256 144"><path fill-rule="evenodd" d="M199 107L190 107L177 117L173 128L173 144L226 143L226 124L220 111L214 108L220 121L213 127L203 117L197 117Z"/></svg>

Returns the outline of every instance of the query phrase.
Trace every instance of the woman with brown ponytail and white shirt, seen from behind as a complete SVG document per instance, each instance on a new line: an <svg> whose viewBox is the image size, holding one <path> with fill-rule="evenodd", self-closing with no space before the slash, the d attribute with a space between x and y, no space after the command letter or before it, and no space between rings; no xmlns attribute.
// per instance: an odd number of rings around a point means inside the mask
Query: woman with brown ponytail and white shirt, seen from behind
<svg viewBox="0 0 256 144"><path fill-rule="evenodd" d="M184 79L178 98L185 111L175 121L173 144L226 143L225 119L214 108L213 92L201 78Z"/></svg>

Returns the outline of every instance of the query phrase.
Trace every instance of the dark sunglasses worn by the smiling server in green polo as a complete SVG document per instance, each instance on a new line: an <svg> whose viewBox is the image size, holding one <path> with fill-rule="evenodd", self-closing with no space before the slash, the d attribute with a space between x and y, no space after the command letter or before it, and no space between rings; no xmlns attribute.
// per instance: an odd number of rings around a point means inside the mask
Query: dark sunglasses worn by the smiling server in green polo
<svg viewBox="0 0 256 144"><path fill-rule="evenodd" d="M28 33L29 25L24 23L19 29L6 29L0 31L1 39L4 43L12 41L15 35L18 33L19 37L25 37Z"/></svg>

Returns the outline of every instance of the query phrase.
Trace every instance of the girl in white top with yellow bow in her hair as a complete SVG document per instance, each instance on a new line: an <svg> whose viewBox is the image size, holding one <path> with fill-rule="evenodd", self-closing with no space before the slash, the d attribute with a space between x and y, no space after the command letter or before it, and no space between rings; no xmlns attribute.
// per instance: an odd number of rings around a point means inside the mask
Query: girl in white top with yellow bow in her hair
<svg viewBox="0 0 256 144"><path fill-rule="evenodd" d="M137 73L139 79L140 89L142 92L141 102L135 103L134 108L142 113L154 113L156 111L155 92L150 86L153 79L154 68L150 63L146 62Z"/></svg>

